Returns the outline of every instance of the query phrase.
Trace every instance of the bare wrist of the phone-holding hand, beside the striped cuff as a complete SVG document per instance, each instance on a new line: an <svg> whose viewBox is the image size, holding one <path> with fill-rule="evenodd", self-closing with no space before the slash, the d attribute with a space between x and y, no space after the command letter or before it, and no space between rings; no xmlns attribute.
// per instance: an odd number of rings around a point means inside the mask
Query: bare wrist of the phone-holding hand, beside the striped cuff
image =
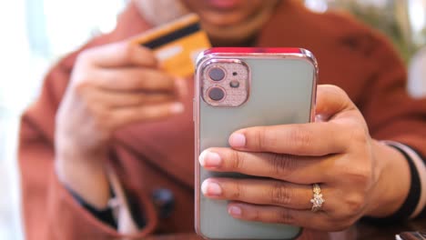
<svg viewBox="0 0 426 240"><path fill-rule="evenodd" d="M404 155L391 146L373 140L378 177L373 185L365 215L382 218L401 208L409 195L410 166Z"/></svg>

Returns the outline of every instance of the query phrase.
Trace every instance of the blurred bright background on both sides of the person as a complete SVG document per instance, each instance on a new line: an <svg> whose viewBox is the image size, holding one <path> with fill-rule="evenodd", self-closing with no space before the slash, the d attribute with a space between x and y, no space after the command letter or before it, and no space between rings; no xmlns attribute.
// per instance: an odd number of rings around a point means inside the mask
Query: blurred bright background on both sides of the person
<svg viewBox="0 0 426 240"><path fill-rule="evenodd" d="M0 1L0 240L25 238L16 165L19 116L38 94L48 67L94 35L111 31L127 1ZM408 91L426 95L426 0L304 3L316 12L350 12L388 35L409 68Z"/></svg>

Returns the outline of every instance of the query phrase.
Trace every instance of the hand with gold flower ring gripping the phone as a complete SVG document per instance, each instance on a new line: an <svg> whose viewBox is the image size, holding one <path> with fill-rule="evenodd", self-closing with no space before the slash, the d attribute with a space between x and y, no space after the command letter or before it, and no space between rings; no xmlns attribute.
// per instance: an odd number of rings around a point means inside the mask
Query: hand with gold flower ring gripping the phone
<svg viewBox="0 0 426 240"><path fill-rule="evenodd" d="M205 150L199 162L209 171L266 178L209 178L203 194L231 200L228 213L239 219L326 231L395 212L410 186L403 156L371 139L340 88L319 85L316 112L316 123L241 129L229 137L232 148ZM312 212L316 183L325 203Z"/></svg>

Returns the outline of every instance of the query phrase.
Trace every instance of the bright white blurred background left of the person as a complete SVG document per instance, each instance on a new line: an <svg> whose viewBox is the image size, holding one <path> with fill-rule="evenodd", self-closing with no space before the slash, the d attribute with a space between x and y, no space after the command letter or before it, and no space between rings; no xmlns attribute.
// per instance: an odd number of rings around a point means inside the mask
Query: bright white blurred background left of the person
<svg viewBox="0 0 426 240"><path fill-rule="evenodd" d="M24 239L16 165L19 115L38 95L49 65L111 30L124 7L124 0L36 1L0 1L0 240ZM28 12L29 5L37 7ZM46 45L35 49L30 44L35 38Z"/></svg>

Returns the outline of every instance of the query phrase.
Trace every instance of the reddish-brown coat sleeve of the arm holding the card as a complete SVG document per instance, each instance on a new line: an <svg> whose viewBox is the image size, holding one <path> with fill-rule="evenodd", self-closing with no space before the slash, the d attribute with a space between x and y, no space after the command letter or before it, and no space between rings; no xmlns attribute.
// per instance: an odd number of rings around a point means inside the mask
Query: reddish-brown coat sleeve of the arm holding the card
<svg viewBox="0 0 426 240"><path fill-rule="evenodd" d="M124 235L90 215L56 177L53 126L57 99L67 78L66 71L56 66L47 75L37 101L21 118L18 161L26 239L117 239ZM147 196L138 195L137 201L146 217L155 215ZM147 218L143 229L127 236L152 233L157 220Z"/></svg>

